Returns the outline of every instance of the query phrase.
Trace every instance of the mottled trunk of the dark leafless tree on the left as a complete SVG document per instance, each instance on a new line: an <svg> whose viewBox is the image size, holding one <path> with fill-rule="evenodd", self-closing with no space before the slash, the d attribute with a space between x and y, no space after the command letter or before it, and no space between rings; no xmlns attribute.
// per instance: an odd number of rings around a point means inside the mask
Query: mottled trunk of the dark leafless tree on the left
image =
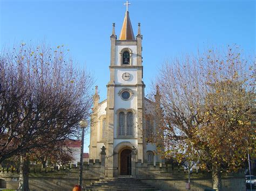
<svg viewBox="0 0 256 191"><path fill-rule="evenodd" d="M26 154L21 155L21 167L19 171L19 188L22 191L29 191L29 160Z"/></svg>

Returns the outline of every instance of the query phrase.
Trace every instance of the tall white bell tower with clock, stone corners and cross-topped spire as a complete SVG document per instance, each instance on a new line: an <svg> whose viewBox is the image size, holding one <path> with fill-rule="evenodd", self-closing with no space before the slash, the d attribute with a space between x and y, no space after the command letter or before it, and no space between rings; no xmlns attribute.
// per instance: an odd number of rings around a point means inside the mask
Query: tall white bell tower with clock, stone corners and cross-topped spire
<svg viewBox="0 0 256 191"><path fill-rule="evenodd" d="M144 88L142 66L142 34L140 23L134 37L129 2L120 36L117 39L115 24L110 36L110 80L107 83L106 140L107 154L124 149L136 150L137 159L143 161ZM122 157L122 156L121 156ZM122 167L121 167L122 168ZM121 172L122 174L122 172Z"/></svg>

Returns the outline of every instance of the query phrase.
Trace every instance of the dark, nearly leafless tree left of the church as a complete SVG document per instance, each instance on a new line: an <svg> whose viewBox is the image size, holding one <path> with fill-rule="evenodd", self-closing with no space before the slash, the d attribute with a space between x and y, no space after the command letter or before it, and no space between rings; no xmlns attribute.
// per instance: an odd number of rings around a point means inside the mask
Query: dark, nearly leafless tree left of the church
<svg viewBox="0 0 256 191"><path fill-rule="evenodd" d="M0 60L0 162L21 155L28 190L28 155L76 136L90 117L92 79L78 70L63 46L21 44Z"/></svg>

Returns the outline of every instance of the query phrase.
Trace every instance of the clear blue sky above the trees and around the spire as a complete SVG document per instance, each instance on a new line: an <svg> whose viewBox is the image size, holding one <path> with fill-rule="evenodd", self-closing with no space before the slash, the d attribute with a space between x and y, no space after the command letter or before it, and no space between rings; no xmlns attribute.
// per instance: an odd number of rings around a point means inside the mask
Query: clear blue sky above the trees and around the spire
<svg viewBox="0 0 256 191"><path fill-rule="evenodd" d="M21 41L64 44L78 67L95 75L100 99L109 81L110 35L122 27L124 0L0 0L0 48ZM134 34L141 23L146 93L164 59L196 53L206 47L238 44L255 55L255 1L131 0ZM85 151L88 151L86 136Z"/></svg>

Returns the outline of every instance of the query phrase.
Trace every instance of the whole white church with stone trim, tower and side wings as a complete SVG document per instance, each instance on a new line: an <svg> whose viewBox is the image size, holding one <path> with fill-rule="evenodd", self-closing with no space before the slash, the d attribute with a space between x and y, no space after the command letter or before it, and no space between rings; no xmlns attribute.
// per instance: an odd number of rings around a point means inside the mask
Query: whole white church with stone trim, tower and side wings
<svg viewBox="0 0 256 191"><path fill-rule="evenodd" d="M140 23L134 36L128 5L122 30L117 39L115 24L110 36L110 80L107 98L99 102L98 87L93 96L93 114L89 153L90 159L100 159L106 148L106 164L113 176L131 175L133 162L162 163L156 144L148 138L158 127L153 115L153 101L144 95L143 57ZM157 99L157 95L155 98ZM107 161L109 159L109 161Z"/></svg>

